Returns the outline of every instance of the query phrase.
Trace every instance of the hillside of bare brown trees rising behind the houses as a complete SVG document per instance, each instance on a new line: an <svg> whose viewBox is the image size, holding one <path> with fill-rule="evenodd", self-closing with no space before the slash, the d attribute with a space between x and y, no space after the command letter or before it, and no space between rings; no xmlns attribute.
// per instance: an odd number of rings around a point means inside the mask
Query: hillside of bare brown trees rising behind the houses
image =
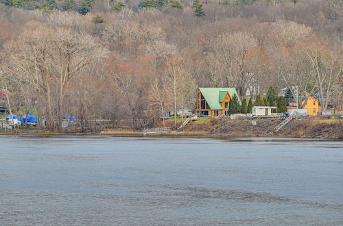
<svg viewBox="0 0 343 226"><path fill-rule="evenodd" d="M340 0L0 0L0 88L12 112L36 109L51 129L64 114L149 119L193 108L197 87L234 87L243 100L297 86L298 99L342 109L342 8Z"/></svg>

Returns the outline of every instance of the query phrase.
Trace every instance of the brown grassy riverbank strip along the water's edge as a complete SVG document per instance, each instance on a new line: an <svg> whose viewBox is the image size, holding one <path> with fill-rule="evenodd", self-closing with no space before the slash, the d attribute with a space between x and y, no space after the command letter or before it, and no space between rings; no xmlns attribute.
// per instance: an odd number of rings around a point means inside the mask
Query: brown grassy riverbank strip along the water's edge
<svg viewBox="0 0 343 226"><path fill-rule="evenodd" d="M161 134L149 134L148 136L169 137L196 137L196 138L245 138L245 137L275 137L275 138L338 138L343 139L343 124L340 120L294 120L285 129L275 132L279 120L227 120L217 119L206 123L189 123L183 131L171 131ZM172 127L173 122L166 122L166 126ZM100 133L80 133L69 131L63 133L26 130L26 131L0 131L0 135L111 135L111 136L143 136L142 131L129 129L106 129Z"/></svg>

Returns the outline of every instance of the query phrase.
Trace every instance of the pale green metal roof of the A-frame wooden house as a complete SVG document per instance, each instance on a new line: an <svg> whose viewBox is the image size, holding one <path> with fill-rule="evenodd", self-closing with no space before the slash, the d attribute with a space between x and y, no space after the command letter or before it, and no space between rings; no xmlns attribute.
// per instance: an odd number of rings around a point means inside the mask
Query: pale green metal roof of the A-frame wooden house
<svg viewBox="0 0 343 226"><path fill-rule="evenodd" d="M233 95L237 95L235 88L199 88L199 90L202 96L204 96L206 102L209 104L211 110L223 110L220 102L224 100L227 92L231 98Z"/></svg>

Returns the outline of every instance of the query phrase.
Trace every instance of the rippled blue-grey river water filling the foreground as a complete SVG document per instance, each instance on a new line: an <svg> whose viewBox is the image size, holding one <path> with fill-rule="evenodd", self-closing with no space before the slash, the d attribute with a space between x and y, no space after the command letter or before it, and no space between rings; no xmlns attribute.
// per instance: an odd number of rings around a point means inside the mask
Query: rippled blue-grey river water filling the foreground
<svg viewBox="0 0 343 226"><path fill-rule="evenodd" d="M0 136L0 225L343 225L343 142Z"/></svg>

